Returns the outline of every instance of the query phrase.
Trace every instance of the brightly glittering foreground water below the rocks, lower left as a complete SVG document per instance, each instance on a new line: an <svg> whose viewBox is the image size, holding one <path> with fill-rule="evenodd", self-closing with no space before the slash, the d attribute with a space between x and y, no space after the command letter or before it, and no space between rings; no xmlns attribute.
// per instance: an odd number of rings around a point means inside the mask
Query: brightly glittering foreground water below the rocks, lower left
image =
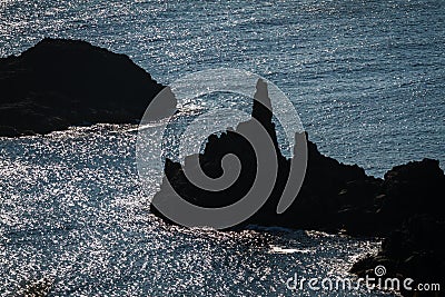
<svg viewBox="0 0 445 297"><path fill-rule="evenodd" d="M377 248L280 228L166 226L147 209L128 128L2 139L1 296L41 279L52 296L289 295L295 273L352 277L354 259Z"/></svg>

